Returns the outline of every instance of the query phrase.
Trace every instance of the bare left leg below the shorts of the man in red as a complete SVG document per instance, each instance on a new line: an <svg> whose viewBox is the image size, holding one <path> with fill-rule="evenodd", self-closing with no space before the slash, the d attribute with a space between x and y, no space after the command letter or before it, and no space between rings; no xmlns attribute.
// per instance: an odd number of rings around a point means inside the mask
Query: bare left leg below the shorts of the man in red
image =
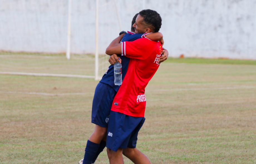
<svg viewBox="0 0 256 164"><path fill-rule="evenodd" d="M122 148L119 148L117 151L107 148L109 163L110 164L124 164L122 151L123 151Z"/></svg>

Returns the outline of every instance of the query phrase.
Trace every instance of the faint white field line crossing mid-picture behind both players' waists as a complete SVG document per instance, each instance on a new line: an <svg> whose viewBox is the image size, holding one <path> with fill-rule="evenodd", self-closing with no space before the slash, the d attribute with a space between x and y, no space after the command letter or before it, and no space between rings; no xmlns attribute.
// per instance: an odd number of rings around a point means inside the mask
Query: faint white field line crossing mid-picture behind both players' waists
<svg viewBox="0 0 256 164"><path fill-rule="evenodd" d="M221 88L177 88L177 89L160 89L146 90L146 92L159 91L193 91L193 90L233 90L233 89L252 89L256 86L236 86L236 87L221 87ZM78 92L78 93L42 93L42 92L16 92L16 91L0 91L3 94L24 94L24 95L43 95L43 96L68 96L68 95L87 95L93 92Z"/></svg>

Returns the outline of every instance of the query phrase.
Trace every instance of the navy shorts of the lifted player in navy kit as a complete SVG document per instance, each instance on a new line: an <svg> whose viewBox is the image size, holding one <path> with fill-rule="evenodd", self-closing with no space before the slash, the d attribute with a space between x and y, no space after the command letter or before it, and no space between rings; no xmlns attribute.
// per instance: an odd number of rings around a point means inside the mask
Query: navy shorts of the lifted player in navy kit
<svg viewBox="0 0 256 164"><path fill-rule="evenodd" d="M110 109L116 95L116 91L105 83L99 82L96 86L92 101L92 123L107 127Z"/></svg>

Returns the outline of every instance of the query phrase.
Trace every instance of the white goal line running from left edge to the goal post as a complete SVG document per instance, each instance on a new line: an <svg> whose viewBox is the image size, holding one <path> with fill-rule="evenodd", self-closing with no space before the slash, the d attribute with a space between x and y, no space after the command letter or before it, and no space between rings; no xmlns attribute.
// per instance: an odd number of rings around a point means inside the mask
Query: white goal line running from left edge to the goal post
<svg viewBox="0 0 256 164"><path fill-rule="evenodd" d="M69 77L69 78L94 78L94 76L87 76L87 75L51 74L51 73L0 72L0 74L27 75L27 76L55 76L55 77Z"/></svg>

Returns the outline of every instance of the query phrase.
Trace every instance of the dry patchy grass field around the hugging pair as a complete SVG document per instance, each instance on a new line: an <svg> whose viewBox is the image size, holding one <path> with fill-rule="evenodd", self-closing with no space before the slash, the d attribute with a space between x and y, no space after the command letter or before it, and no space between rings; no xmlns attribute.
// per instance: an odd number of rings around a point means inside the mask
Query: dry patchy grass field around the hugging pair
<svg viewBox="0 0 256 164"><path fill-rule="evenodd" d="M84 57L64 59L0 54L0 71L85 73ZM0 74L0 163L78 163L97 83ZM146 96L137 148L152 163L256 163L256 61L169 58Z"/></svg>

